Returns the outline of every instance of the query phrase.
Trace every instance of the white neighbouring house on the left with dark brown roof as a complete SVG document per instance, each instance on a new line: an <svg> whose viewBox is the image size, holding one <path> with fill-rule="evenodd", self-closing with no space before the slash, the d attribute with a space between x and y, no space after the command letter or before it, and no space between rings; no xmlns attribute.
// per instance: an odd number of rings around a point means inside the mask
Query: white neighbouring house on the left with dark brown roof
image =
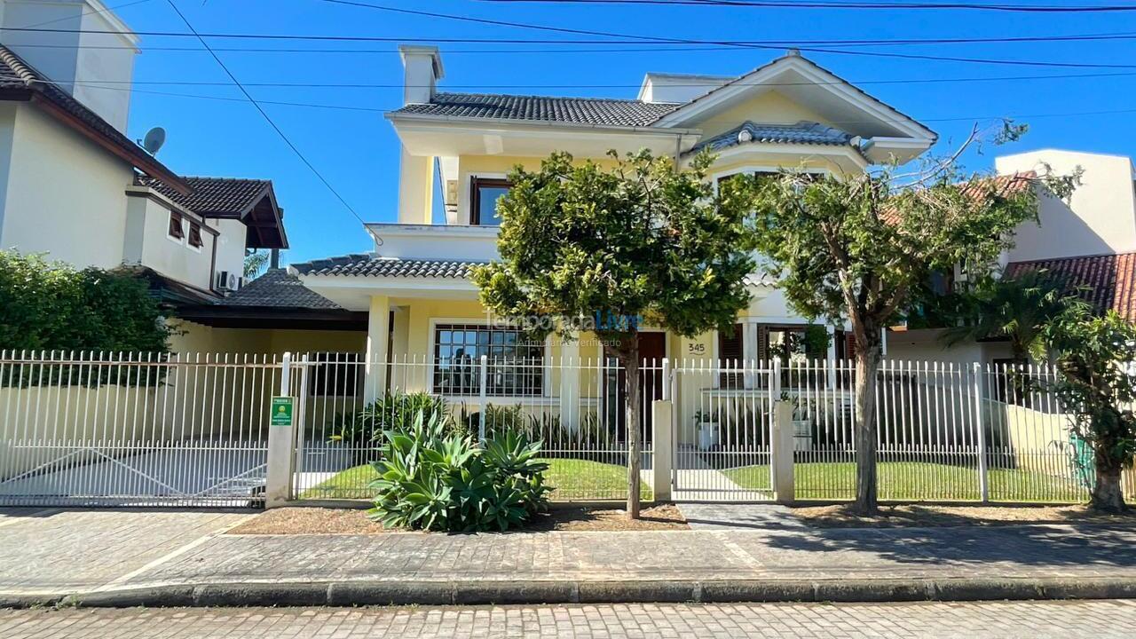
<svg viewBox="0 0 1136 639"><path fill-rule="evenodd" d="M83 33L19 31L36 25ZM126 136L139 51L98 0L0 0L0 249L136 272L204 324L182 323L176 350L233 350L210 326L248 315L244 256L287 248L283 209L270 181L181 176ZM287 326L287 299L260 325Z"/></svg>

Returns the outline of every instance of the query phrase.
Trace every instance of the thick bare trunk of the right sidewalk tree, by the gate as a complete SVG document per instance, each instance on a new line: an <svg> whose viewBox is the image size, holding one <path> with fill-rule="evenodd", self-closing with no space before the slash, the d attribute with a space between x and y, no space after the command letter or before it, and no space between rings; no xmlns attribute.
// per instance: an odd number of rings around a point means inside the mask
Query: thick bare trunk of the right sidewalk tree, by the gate
<svg viewBox="0 0 1136 639"><path fill-rule="evenodd" d="M858 515L875 515L878 511L876 480L876 377L883 359L883 343L878 329L862 331L857 339L855 354L855 501L852 509Z"/></svg>

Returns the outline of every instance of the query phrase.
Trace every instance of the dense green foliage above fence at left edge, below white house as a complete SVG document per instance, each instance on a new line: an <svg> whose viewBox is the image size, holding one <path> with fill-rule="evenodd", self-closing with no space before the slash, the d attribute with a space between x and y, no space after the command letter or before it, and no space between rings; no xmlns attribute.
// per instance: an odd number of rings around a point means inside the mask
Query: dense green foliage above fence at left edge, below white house
<svg viewBox="0 0 1136 639"><path fill-rule="evenodd" d="M133 275L0 251L0 348L166 352L164 315Z"/></svg>

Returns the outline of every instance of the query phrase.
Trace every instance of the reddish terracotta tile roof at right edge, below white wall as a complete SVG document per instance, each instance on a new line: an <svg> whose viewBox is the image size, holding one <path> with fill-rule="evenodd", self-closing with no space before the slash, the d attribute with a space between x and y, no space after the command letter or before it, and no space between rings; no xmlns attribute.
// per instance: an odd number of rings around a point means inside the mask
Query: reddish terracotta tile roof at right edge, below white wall
<svg viewBox="0 0 1136 639"><path fill-rule="evenodd" d="M1005 276L1017 277L1042 269L1062 281L1070 291L1084 287L1079 297L1097 313L1111 309L1136 322L1136 252L1011 262L1005 267Z"/></svg>

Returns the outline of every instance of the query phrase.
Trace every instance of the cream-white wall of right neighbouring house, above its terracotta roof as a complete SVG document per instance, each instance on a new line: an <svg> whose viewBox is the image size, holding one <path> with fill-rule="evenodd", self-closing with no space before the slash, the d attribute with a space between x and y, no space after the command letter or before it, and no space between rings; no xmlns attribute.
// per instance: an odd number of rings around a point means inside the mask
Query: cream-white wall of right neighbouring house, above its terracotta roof
<svg viewBox="0 0 1136 639"><path fill-rule="evenodd" d="M1046 149L994 160L1000 174L1043 173L1044 164L1059 175L1081 167L1083 184L1068 202L1042 199L1041 225L1027 223L1018 229L1009 262L1136 250L1136 199L1128 158Z"/></svg>

